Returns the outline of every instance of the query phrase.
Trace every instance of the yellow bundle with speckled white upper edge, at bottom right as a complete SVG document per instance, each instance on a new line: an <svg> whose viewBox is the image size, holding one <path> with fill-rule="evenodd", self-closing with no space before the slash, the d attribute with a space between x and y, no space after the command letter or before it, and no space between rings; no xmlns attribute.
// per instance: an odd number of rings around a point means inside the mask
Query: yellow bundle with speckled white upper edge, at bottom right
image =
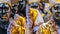
<svg viewBox="0 0 60 34"><path fill-rule="evenodd" d="M55 27L52 26L53 23L49 23L51 21L48 21L47 23L43 23L39 26L38 31L36 34L55 34Z"/></svg>

